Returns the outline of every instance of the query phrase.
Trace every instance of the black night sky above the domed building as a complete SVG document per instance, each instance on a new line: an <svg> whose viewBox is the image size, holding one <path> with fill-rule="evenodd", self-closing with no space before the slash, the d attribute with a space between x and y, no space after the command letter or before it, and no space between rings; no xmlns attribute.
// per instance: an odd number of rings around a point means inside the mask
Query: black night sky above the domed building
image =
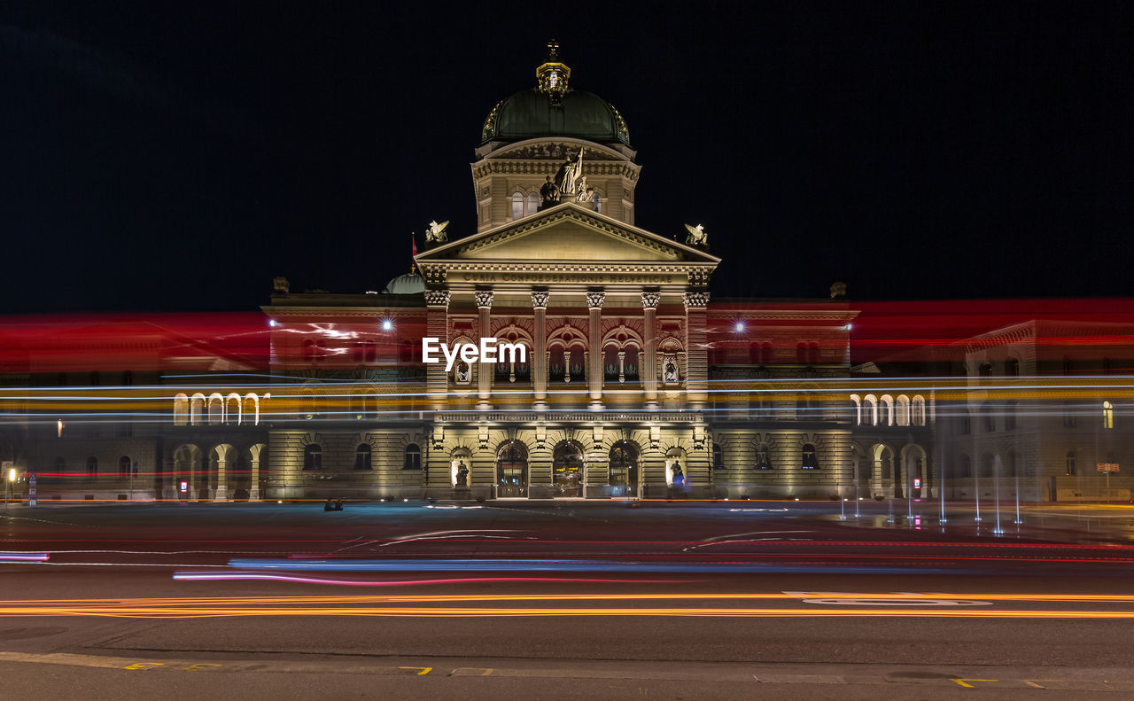
<svg viewBox="0 0 1134 701"><path fill-rule="evenodd" d="M0 9L0 312L381 289L551 37L717 295L1129 294L1129 5L171 5Z"/></svg>

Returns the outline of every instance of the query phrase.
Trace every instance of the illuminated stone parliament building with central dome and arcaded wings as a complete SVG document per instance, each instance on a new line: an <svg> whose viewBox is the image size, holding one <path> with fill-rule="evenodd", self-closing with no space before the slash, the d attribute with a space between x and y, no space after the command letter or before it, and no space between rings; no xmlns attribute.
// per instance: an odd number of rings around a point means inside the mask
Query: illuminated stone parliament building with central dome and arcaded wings
<svg viewBox="0 0 1134 701"><path fill-rule="evenodd" d="M259 365L181 340L167 353L149 330L132 337L149 370L88 379L29 353L9 387L87 385L108 408L9 421L0 457L43 475L44 500L214 501L972 498L1009 476L1027 498L1072 498L1083 478L1065 454L1134 459L1109 400L1101 441L1042 412L988 417L992 374L1058 364L1023 331L958 344L923 373L958 379L934 383L883 358L852 365L858 311L839 282L819 299L711 297L729 261L700 226L678 239L682 222L635 226L627 124L574 86L553 44L474 154L474 233L431 222L414 270L381 293L277 278ZM525 353L426 363L423 339ZM125 341L105 343L118 357ZM35 415L34 392L14 396L10 415Z"/></svg>

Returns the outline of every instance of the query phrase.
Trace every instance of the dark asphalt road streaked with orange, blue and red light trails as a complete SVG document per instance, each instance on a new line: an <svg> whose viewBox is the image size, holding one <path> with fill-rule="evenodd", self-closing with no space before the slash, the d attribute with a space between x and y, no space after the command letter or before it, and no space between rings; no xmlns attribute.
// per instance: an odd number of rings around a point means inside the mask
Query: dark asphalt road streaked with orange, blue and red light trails
<svg viewBox="0 0 1134 701"><path fill-rule="evenodd" d="M0 564L0 674L28 699L1134 695L1134 510L936 508L12 508L0 550L46 560Z"/></svg>

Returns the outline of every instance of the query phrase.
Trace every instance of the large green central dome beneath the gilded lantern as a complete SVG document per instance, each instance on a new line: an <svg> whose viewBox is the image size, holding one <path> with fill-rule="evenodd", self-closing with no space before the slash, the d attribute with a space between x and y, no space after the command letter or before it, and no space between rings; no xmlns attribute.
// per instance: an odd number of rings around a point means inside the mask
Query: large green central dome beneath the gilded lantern
<svg viewBox="0 0 1134 701"><path fill-rule="evenodd" d="M631 145L626 121L594 93L572 90L553 104L539 90L524 90L501 100L484 120L481 143L570 136L596 143Z"/></svg>

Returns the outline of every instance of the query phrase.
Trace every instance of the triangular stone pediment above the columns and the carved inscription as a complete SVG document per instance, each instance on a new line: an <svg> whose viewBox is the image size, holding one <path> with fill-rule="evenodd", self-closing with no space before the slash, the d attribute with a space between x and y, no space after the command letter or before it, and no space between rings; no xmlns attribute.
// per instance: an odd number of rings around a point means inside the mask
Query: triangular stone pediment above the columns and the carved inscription
<svg viewBox="0 0 1134 701"><path fill-rule="evenodd" d="M421 265L442 261L716 265L720 259L702 248L565 203L417 255Z"/></svg>

